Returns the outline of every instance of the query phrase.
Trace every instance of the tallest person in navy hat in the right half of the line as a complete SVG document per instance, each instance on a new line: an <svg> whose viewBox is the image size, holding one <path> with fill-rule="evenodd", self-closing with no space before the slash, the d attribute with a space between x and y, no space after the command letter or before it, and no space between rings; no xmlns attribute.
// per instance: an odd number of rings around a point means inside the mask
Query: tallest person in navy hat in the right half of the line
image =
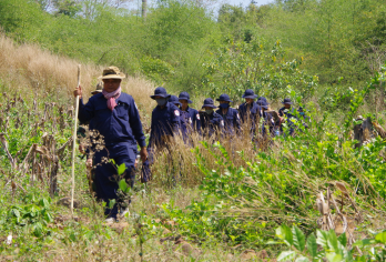
<svg viewBox="0 0 386 262"><path fill-rule="evenodd" d="M256 123L261 118L261 107L254 101L257 95L253 90L247 89L243 94L245 103L238 107L240 118L242 123L247 124L251 129L251 137L254 138L256 134Z"/></svg>

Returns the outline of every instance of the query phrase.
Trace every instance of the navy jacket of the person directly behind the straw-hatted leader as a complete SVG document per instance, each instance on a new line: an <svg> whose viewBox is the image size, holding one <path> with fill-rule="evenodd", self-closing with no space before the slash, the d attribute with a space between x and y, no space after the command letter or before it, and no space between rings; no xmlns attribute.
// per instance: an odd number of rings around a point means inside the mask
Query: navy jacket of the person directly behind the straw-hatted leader
<svg viewBox="0 0 386 262"><path fill-rule="evenodd" d="M163 109L158 105L153 110L148 148L151 148L152 144L163 144L163 135L173 137L180 131L180 109L170 102L166 102Z"/></svg>

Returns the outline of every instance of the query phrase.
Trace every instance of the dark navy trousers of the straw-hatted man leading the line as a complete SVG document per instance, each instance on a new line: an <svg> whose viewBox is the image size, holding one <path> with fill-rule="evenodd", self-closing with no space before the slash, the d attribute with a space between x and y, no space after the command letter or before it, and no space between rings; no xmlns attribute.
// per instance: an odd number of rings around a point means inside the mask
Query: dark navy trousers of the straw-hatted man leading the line
<svg viewBox="0 0 386 262"><path fill-rule="evenodd" d="M120 201L116 192L119 189L118 182L120 179L125 179L129 187L134 185L135 173L135 148L128 143L118 143L111 147L105 147L100 152L95 153L95 194L99 201L106 203L104 214L109 218L116 218L118 202ZM119 178L116 168L111 162L103 162L103 159L113 159L116 165L124 163L126 165L126 172L124 177ZM115 200L115 204L112 209L109 208L110 200Z"/></svg>

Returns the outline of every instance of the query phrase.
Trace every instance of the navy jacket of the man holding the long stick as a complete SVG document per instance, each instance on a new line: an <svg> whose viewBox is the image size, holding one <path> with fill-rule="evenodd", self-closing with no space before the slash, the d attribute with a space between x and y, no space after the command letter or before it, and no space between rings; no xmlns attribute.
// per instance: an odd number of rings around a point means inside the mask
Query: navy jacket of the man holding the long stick
<svg viewBox="0 0 386 262"><path fill-rule="evenodd" d="M145 147L145 137L142 131L140 113L134 99L126 93L121 93L116 99L113 111L108 108L108 100L102 93L89 99L87 104L80 100L79 120L90 121L90 129L98 130L104 138L104 144L111 147L125 142L129 147Z"/></svg>

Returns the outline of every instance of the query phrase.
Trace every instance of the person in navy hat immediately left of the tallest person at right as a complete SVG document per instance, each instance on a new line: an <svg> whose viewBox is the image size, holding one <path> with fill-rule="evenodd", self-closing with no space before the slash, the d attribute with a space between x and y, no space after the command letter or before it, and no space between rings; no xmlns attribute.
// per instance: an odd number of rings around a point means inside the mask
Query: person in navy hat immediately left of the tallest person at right
<svg viewBox="0 0 386 262"><path fill-rule="evenodd" d="M240 115L236 109L231 108L232 100L230 95L223 93L216 99L220 102L219 113L224 120L224 133L225 135L234 135L240 130Z"/></svg>

